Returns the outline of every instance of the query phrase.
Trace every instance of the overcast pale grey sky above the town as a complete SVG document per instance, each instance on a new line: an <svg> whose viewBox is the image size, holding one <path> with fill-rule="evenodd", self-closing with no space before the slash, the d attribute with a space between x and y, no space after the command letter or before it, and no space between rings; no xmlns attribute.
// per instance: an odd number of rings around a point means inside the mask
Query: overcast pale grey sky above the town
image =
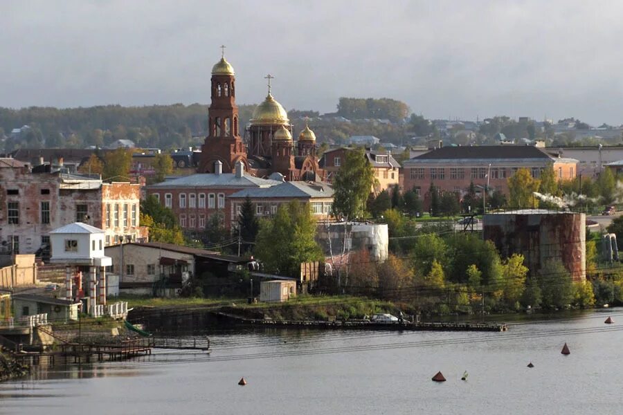
<svg viewBox="0 0 623 415"><path fill-rule="evenodd" d="M395 98L426 118L623 123L619 1L0 1L0 106Z"/></svg>

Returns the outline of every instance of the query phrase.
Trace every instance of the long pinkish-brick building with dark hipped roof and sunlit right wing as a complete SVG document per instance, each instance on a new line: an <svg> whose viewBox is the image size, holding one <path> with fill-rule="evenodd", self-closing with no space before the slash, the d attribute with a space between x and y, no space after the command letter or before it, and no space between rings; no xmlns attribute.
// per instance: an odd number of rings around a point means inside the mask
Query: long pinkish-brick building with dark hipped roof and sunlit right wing
<svg viewBox="0 0 623 415"><path fill-rule="evenodd" d="M424 197L425 206L431 184L461 196L472 182L508 194L507 179L518 169L527 168L538 178L548 165L553 165L558 180L577 174L574 158L554 158L533 146L441 147L404 162L404 188Z"/></svg>

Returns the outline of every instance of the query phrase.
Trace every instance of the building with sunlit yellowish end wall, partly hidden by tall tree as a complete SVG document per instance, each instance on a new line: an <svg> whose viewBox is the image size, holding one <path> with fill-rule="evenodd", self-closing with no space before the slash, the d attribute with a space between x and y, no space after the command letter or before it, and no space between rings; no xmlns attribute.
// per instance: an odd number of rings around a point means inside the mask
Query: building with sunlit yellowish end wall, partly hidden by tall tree
<svg viewBox="0 0 623 415"><path fill-rule="evenodd" d="M320 160L320 165L327 172L327 181L332 182L332 178L346 159L346 154L354 147L341 147L339 149L325 151L323 159ZM370 148L365 149L365 159L372 165L374 170L374 178L377 183L374 184L372 192L378 194L383 190L399 184L399 172L400 164L392 156L391 153L384 153L381 151L375 151Z"/></svg>

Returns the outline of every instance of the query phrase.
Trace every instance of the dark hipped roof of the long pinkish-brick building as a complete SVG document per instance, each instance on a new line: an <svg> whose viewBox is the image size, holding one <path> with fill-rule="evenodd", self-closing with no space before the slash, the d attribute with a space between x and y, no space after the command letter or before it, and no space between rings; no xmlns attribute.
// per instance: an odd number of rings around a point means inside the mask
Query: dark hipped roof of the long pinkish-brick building
<svg viewBox="0 0 623 415"><path fill-rule="evenodd" d="M428 151L414 158L406 160L405 163L424 160L552 160L552 157L545 154L537 147L530 145L482 145L469 147L441 147Z"/></svg>

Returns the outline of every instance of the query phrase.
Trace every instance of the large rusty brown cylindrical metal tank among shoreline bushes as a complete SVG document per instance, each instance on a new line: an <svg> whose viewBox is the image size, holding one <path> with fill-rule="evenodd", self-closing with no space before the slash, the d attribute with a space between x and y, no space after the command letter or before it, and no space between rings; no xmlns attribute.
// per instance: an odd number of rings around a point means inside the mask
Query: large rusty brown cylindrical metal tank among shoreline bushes
<svg viewBox="0 0 623 415"><path fill-rule="evenodd" d="M586 215L553 210L514 210L485 214L485 240L493 241L506 258L525 257L530 274L536 275L547 261L559 259L574 282L586 279Z"/></svg>

